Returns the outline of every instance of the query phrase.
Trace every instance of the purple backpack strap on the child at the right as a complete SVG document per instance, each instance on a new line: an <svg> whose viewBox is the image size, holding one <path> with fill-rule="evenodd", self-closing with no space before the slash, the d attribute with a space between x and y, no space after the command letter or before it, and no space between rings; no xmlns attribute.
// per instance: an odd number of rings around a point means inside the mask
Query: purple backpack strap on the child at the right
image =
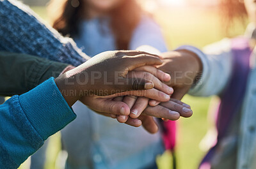
<svg viewBox="0 0 256 169"><path fill-rule="evenodd" d="M227 135L228 126L232 119L241 110L244 93L246 91L246 82L250 71L250 49L247 38L235 38L232 40L233 68L230 82L221 94L221 103L217 112L216 128L218 138L216 145L210 149L200 164L200 169L211 168L211 159L215 154L216 147L220 140Z"/></svg>

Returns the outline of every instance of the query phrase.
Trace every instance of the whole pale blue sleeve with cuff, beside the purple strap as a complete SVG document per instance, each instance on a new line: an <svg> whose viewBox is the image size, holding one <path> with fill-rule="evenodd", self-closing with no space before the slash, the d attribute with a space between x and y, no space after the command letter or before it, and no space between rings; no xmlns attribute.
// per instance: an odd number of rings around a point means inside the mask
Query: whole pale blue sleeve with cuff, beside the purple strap
<svg viewBox="0 0 256 169"><path fill-rule="evenodd" d="M189 94L193 96L220 95L232 73L231 40L224 39L208 45L204 48L204 52L193 47L188 50L195 52L202 62L201 78L198 79L196 85L193 85Z"/></svg>

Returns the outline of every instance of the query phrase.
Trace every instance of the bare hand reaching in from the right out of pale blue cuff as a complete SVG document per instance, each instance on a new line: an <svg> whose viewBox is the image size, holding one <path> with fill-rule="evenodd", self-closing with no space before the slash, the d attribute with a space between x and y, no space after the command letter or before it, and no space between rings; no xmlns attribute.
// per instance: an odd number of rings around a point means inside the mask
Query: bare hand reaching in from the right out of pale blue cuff
<svg viewBox="0 0 256 169"><path fill-rule="evenodd" d="M172 98L181 99L189 91L196 78L200 78L202 62L196 54L186 50L166 52L161 56L163 64L157 68L171 75L172 79L168 85L174 89Z"/></svg>

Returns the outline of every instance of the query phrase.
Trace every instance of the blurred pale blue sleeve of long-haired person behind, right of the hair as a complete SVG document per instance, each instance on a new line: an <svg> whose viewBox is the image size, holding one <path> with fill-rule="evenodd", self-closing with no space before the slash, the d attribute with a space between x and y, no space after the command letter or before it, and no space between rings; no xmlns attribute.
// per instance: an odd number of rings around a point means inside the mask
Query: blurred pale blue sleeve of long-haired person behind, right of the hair
<svg viewBox="0 0 256 169"><path fill-rule="evenodd" d="M154 47L160 52L167 52L161 27L152 18L145 15L132 34L129 49L135 50L142 45Z"/></svg>

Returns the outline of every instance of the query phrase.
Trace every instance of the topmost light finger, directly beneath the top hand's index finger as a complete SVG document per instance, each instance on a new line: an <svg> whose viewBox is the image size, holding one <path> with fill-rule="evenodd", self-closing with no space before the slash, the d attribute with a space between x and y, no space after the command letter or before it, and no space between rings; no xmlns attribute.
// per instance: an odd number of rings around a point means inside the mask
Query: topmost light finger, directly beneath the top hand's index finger
<svg viewBox="0 0 256 169"><path fill-rule="evenodd" d="M142 66L140 68L136 68L134 71L147 71L148 73L151 73L156 78L159 78L159 80L168 82L171 80L171 76L168 73L164 73L161 70L158 70L154 66Z"/></svg>

